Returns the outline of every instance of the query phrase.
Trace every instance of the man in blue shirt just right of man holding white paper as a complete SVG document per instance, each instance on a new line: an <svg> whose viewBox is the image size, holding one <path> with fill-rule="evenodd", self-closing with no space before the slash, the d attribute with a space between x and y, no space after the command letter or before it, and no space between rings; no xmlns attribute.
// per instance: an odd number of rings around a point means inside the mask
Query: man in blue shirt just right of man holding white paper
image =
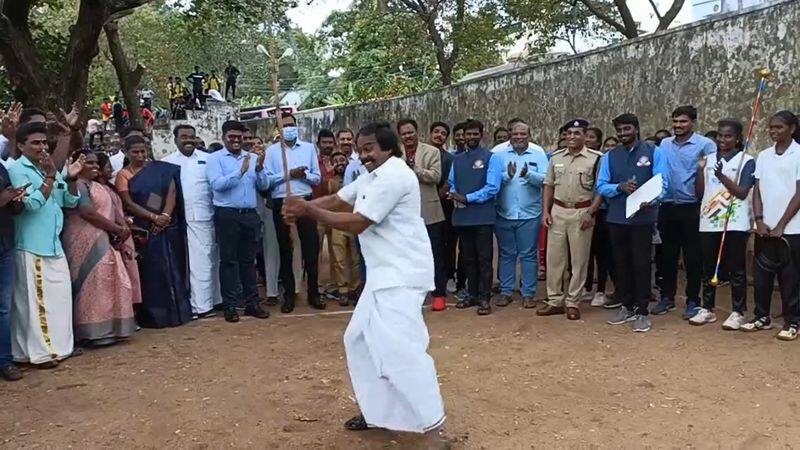
<svg viewBox="0 0 800 450"><path fill-rule="evenodd" d="M683 253L686 268L686 309L688 320L700 309L702 255L700 253L700 198L695 193L697 163L717 151L711 139L694 132L697 109L680 106L672 112L674 136L661 141L659 149L667 162L669 189L658 211L661 235L661 301L653 314L675 309L678 286L678 257Z"/></svg>

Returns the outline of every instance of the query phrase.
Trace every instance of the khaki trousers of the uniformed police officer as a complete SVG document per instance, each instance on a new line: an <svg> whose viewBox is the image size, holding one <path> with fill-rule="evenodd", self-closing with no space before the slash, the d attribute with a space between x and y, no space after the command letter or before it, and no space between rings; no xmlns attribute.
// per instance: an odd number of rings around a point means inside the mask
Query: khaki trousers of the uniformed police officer
<svg viewBox="0 0 800 450"><path fill-rule="evenodd" d="M547 232L547 303L577 308L586 283L586 268L594 227L581 230L581 216L589 208L568 209L553 205L553 224ZM566 284L567 258L572 277Z"/></svg>

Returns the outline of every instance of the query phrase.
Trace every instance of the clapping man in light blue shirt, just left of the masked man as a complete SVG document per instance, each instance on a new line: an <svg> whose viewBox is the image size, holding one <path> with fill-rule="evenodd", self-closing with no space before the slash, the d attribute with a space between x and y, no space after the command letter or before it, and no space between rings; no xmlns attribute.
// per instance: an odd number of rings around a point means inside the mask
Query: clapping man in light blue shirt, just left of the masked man
<svg viewBox="0 0 800 450"><path fill-rule="evenodd" d="M264 170L264 147L242 150L245 126L236 120L222 124L225 147L209 155L206 175L211 184L214 227L219 246L219 281L225 320L238 322L236 303L243 298L244 313L266 319L256 282L256 249L261 219L256 210L258 190L269 188Z"/></svg>

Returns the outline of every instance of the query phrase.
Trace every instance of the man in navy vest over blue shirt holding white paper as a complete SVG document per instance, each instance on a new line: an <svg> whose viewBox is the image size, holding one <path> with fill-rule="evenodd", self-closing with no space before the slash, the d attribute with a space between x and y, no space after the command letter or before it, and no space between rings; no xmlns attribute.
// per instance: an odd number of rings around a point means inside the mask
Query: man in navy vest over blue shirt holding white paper
<svg viewBox="0 0 800 450"><path fill-rule="evenodd" d="M661 174L666 190L667 164L661 151L639 139L639 118L626 113L614 118L620 144L600 159L597 193L608 202L608 222L616 264L616 295L620 309L608 321L610 325L633 322L633 330L650 331L650 254L653 227L658 217L656 204L641 205L631 217L626 216L628 196L655 175ZM662 191L663 195L663 191Z"/></svg>

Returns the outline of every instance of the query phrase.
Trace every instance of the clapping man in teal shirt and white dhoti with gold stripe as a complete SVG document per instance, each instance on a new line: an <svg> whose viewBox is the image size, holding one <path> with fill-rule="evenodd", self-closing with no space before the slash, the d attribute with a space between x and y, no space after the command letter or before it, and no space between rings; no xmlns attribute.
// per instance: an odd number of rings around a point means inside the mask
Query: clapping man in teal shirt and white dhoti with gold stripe
<svg viewBox="0 0 800 450"><path fill-rule="evenodd" d="M16 142L22 156L8 169L11 184L25 188L24 210L14 216L17 277L11 305L14 360L53 368L73 355L72 282L61 247L64 213L78 205L77 175L83 156L56 170L47 152L47 126L20 126Z"/></svg>

